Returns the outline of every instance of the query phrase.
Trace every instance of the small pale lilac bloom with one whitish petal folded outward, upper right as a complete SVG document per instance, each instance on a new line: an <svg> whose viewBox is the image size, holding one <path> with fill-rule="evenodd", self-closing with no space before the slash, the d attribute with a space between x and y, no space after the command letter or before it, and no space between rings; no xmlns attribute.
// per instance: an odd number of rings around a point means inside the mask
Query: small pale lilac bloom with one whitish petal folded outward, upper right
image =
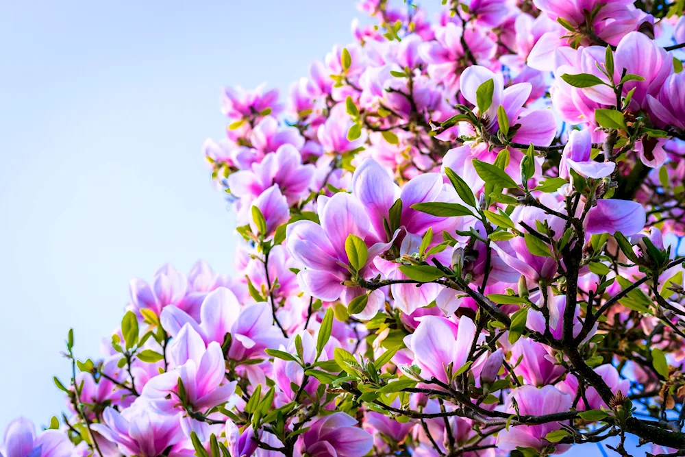
<svg viewBox="0 0 685 457"><path fill-rule="evenodd" d="M590 130L572 130L569 142L564 146L559 165L559 176L569 178L569 169L575 170L584 177L599 179L611 175L616 169L614 162L595 162L590 159L593 149Z"/></svg>

